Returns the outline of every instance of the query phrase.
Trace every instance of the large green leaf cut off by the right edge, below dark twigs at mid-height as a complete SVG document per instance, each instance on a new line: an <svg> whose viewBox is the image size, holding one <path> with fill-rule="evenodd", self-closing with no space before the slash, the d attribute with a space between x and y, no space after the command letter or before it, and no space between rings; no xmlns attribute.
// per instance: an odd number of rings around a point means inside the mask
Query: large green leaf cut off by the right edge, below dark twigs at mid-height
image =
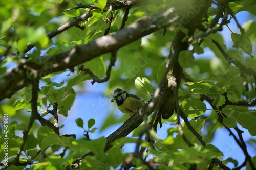
<svg viewBox="0 0 256 170"><path fill-rule="evenodd" d="M248 110L245 106L226 106L222 111L232 116L243 128L248 129L252 136L256 135L254 126L256 119L255 110Z"/></svg>

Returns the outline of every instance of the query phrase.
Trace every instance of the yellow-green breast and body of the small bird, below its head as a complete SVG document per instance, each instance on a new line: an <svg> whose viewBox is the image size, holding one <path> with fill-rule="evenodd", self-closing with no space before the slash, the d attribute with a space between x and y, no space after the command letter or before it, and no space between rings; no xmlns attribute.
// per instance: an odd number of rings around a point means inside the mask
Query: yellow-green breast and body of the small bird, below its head
<svg viewBox="0 0 256 170"><path fill-rule="evenodd" d="M122 103L122 105L117 106L117 108L126 114L130 114L133 115L134 113L136 113L142 106L144 106L143 101L132 98L132 97L128 97L124 100L124 102Z"/></svg>

